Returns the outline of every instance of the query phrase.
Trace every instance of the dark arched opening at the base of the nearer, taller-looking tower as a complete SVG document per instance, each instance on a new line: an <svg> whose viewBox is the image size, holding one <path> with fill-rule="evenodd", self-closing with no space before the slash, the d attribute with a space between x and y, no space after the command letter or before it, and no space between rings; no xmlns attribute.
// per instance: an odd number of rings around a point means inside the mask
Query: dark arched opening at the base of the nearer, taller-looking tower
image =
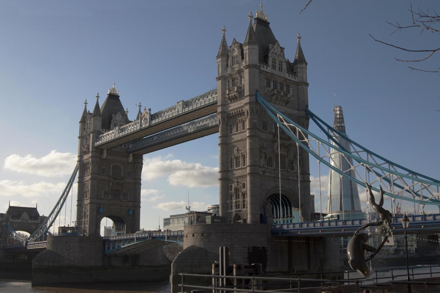
<svg viewBox="0 0 440 293"><path fill-rule="evenodd" d="M268 207L265 209L264 212L270 209L274 224L299 222L299 212L295 213L292 201L286 195L281 195L281 209L279 193L273 193L269 195L268 202ZM297 219L295 218L295 216L297 217ZM267 222L268 215L260 215L260 222L261 220L266 220Z"/></svg>

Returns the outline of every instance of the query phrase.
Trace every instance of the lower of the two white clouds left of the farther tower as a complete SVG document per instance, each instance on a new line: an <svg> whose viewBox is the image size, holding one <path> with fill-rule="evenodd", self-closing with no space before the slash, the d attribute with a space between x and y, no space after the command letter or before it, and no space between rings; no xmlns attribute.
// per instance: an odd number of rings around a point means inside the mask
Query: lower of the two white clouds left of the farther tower
<svg viewBox="0 0 440 293"><path fill-rule="evenodd" d="M66 183L64 182L53 184L41 181L26 185L23 181L0 180L0 195L25 197L61 195L65 187Z"/></svg>

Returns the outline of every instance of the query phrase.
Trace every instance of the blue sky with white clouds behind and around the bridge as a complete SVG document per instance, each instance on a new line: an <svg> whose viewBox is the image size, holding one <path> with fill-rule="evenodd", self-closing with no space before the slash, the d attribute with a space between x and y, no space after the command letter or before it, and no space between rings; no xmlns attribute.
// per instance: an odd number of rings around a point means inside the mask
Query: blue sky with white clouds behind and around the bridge
<svg viewBox="0 0 440 293"><path fill-rule="evenodd" d="M296 35L301 34L310 109L332 123L336 91L335 102L343 107L352 139L396 163L440 178L440 112L435 111L440 110L439 75L410 71L394 57L423 54L386 47L368 34L411 49L438 47L438 35L407 30L389 36L393 29L385 21L411 21L406 1L313 0L298 14L306 3L265 1L263 10L286 58L293 60ZM255 14L259 4L0 1L0 211L11 200L28 206L38 202L41 214L50 212L73 170L84 99L93 104L99 92L102 104L113 82L130 119L139 101L156 112L215 87L222 25L228 44L233 38L243 42L247 15ZM437 1L417 5L440 9ZM416 65L436 69L439 56ZM157 227L159 216L184 212L181 202L188 191L200 209L218 203L212 176L218 167L217 143L213 134L144 156L144 170L150 166L160 176L143 174L141 227ZM317 177L318 164L310 162L311 174ZM188 174L205 174L207 179L182 181ZM323 202L325 198L323 193Z"/></svg>

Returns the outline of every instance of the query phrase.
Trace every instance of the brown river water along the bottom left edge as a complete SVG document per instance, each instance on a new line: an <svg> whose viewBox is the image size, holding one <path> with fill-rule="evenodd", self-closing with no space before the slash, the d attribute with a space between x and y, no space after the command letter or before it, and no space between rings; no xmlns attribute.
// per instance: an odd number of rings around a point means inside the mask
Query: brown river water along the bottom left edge
<svg viewBox="0 0 440 293"><path fill-rule="evenodd" d="M0 279L0 292L8 293L170 293L169 282L103 283L67 287L32 287L30 281Z"/></svg>

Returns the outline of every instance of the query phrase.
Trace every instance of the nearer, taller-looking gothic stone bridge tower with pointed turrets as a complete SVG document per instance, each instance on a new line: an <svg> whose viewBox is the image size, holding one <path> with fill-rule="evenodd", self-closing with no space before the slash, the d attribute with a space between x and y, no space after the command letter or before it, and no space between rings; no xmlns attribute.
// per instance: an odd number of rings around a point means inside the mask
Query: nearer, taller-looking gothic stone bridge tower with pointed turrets
<svg viewBox="0 0 440 293"><path fill-rule="evenodd" d="M243 43L234 39L228 47L223 27L217 54L220 215L230 223L299 221L300 189L302 219L307 221L314 212L308 153L300 147L298 158L297 145L282 132L278 148L277 125L255 95L258 90L277 109L308 128L307 62L301 37L298 33L295 58L290 62L262 7L256 14L253 18L249 12Z"/></svg>

